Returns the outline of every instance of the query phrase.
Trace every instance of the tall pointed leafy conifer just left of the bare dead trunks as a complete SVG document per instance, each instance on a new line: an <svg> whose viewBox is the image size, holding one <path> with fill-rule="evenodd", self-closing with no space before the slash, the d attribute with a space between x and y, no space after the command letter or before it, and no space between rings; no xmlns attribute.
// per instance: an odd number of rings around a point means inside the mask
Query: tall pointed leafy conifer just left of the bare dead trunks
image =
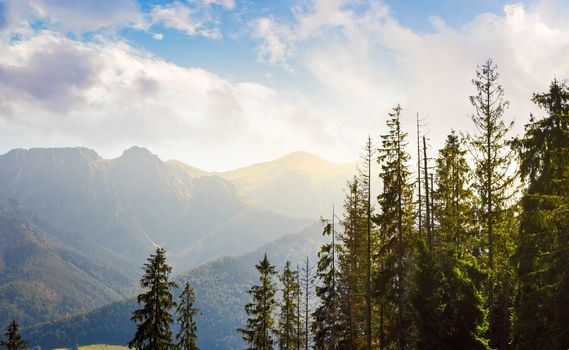
<svg viewBox="0 0 569 350"><path fill-rule="evenodd" d="M388 133L382 135L378 161L383 192L379 196L381 246L376 286L384 320L381 348L411 347L412 317L409 287L414 240L413 188L410 184L410 159L406 151L407 134L401 129L401 107L389 114Z"/></svg>

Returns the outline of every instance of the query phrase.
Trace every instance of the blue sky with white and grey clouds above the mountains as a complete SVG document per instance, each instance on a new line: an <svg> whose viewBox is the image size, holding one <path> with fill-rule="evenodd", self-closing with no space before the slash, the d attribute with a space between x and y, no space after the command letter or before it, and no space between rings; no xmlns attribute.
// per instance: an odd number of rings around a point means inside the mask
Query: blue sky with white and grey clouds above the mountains
<svg viewBox="0 0 569 350"><path fill-rule="evenodd" d="M227 170L303 150L357 158L400 104L433 150L472 132L477 65L523 131L569 77L564 0L0 0L0 153L143 146Z"/></svg>

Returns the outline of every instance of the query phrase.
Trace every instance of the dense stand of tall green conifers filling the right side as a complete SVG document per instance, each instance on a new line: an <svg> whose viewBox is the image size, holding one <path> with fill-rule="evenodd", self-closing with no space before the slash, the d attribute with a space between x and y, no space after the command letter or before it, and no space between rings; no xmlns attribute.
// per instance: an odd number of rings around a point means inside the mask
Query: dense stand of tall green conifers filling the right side
<svg viewBox="0 0 569 350"><path fill-rule="evenodd" d="M322 220L314 295L308 269L259 262L248 349L569 348L569 88L535 93L543 117L511 138L497 66L475 73L473 133L429 154L418 119L412 157L396 106L368 138L339 225Z"/></svg>

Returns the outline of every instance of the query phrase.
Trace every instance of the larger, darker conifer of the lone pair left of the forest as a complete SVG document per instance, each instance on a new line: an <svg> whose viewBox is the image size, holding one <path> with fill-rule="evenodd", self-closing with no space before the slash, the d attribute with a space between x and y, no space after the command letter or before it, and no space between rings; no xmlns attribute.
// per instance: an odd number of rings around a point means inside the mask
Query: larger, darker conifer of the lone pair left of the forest
<svg viewBox="0 0 569 350"><path fill-rule="evenodd" d="M156 248L144 264L144 276L140 286L147 289L139 294L137 301L142 309L134 311L132 320L137 324L136 334L129 342L130 348L139 350L171 349L173 323L170 311L176 306L172 289L176 283L170 281L172 268L166 264L166 251Z"/></svg>

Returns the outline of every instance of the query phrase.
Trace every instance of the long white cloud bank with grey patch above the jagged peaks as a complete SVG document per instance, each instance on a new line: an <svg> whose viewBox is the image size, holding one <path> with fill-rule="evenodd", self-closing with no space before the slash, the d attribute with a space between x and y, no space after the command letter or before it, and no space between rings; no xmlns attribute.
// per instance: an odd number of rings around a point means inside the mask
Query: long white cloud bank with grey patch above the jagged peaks
<svg viewBox="0 0 569 350"><path fill-rule="evenodd" d="M4 150L20 145L14 135L105 155L137 144L164 158L225 168L314 143L292 132L306 123L302 103L258 83L179 67L123 41L81 43L44 31L1 45L0 56L10 58L0 63Z"/></svg>

